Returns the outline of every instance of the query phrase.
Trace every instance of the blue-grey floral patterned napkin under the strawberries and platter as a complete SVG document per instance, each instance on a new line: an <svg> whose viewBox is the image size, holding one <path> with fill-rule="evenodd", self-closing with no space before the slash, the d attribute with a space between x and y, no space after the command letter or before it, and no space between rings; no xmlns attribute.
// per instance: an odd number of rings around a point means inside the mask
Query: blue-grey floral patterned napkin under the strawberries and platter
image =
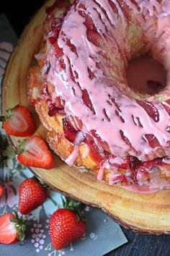
<svg viewBox="0 0 170 256"><path fill-rule="evenodd" d="M12 53L13 46L17 44L17 36L4 14L0 15L0 84L4 74L6 63ZM1 85L0 85L1 100ZM1 101L0 101L1 102ZM0 132L0 154L6 157L6 161L0 163L0 180L4 183L5 193L0 199L0 215L13 208L17 209L19 184L28 177L32 177L31 171L17 163L14 153L6 144L3 131ZM48 235L50 215L61 205L61 194L52 191L48 200L27 216L27 234L22 244L0 244L0 255L9 256L102 256L125 244L127 239L120 226L109 216L97 208L86 206L84 216L87 222L87 230L84 237L62 250L54 250Z"/></svg>

